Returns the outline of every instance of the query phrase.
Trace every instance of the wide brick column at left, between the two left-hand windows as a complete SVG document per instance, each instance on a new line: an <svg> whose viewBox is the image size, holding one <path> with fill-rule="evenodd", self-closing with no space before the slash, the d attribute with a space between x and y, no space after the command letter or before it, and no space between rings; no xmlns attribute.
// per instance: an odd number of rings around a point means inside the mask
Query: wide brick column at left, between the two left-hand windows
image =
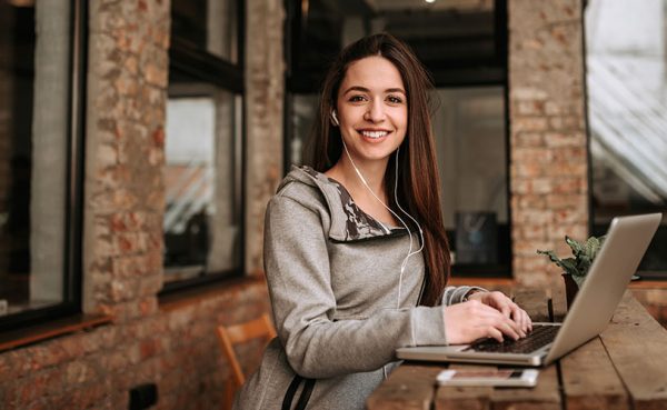
<svg viewBox="0 0 667 410"><path fill-rule="evenodd" d="M170 2L90 2L84 310L151 314L162 286Z"/></svg>

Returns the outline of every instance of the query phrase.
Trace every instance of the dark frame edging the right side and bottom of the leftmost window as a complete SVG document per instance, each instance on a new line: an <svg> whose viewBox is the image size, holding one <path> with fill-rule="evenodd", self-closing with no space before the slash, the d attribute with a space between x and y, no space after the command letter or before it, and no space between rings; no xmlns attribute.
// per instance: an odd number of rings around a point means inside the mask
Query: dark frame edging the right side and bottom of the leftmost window
<svg viewBox="0 0 667 410"><path fill-rule="evenodd" d="M83 237L83 176L84 131L88 70L88 2L70 1L69 56L69 147L66 187L64 263L62 302L0 317L0 332L27 328L81 312L82 302L82 237Z"/></svg>

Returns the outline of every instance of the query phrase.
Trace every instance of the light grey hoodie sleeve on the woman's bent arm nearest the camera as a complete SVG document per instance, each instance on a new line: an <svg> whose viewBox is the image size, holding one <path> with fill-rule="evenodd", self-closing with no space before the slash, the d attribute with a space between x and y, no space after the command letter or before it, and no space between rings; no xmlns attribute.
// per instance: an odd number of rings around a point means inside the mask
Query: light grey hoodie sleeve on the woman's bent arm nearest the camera
<svg viewBox="0 0 667 410"><path fill-rule="evenodd" d="M445 344L442 309L384 309L366 319L332 321L322 216L277 196L267 209L265 268L278 336L292 369L330 378L379 369L400 347Z"/></svg>

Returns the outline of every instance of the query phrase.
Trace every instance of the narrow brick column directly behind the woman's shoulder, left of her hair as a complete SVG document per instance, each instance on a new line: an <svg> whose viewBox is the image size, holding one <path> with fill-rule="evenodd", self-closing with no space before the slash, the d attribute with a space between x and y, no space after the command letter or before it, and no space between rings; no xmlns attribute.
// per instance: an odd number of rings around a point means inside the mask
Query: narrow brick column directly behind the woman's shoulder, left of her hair
<svg viewBox="0 0 667 410"><path fill-rule="evenodd" d="M251 276L263 270L265 210L282 178L282 3L246 2L246 270Z"/></svg>

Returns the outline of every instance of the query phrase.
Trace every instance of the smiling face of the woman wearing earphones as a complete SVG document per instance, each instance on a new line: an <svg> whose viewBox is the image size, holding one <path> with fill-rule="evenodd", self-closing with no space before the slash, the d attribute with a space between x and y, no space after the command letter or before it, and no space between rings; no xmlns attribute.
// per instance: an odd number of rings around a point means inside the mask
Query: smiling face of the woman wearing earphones
<svg viewBox="0 0 667 410"><path fill-rule="evenodd" d="M352 62L338 90L337 113L355 162L387 160L408 128L408 100L398 69L379 56Z"/></svg>

